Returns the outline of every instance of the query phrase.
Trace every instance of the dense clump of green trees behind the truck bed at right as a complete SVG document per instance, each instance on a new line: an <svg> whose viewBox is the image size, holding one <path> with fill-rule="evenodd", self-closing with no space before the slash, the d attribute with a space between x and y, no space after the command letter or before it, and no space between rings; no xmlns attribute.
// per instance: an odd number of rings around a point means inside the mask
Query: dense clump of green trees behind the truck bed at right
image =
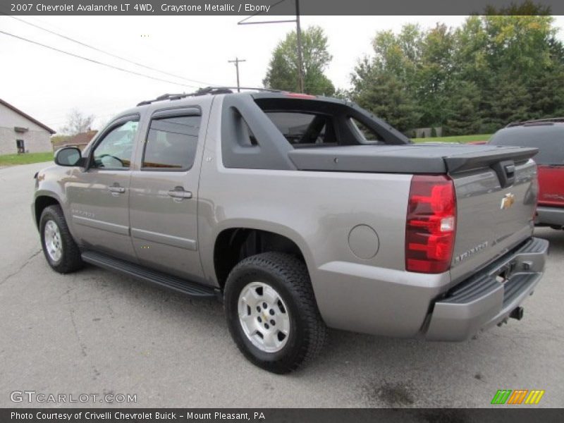
<svg viewBox="0 0 564 423"><path fill-rule="evenodd" d="M396 125L443 125L453 135L564 114L564 46L548 10L526 1L489 12L458 28L377 32L374 54L353 71L351 96Z"/></svg>

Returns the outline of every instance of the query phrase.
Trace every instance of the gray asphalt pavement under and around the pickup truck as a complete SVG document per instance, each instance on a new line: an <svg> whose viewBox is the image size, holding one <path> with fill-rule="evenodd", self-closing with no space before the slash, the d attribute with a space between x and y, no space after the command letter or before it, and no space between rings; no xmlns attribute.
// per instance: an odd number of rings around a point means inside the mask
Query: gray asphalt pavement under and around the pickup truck
<svg viewBox="0 0 564 423"><path fill-rule="evenodd" d="M317 360L278 376L238 352L219 302L93 266L51 271L30 213L46 165L0 169L0 407L489 407L498 389L564 406L564 231L537 230L551 255L522 321L462 343L330 331ZM37 394L97 397L27 402Z"/></svg>

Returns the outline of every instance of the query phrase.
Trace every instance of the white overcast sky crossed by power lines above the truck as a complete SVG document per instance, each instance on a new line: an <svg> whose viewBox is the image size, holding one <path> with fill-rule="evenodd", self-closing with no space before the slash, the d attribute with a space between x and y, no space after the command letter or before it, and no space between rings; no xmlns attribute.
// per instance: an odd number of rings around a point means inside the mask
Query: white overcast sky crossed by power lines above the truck
<svg viewBox="0 0 564 423"><path fill-rule="evenodd" d="M145 66L212 85L262 87L271 51L292 30L292 23L237 25L238 16L18 16L67 37L90 44ZM348 88L357 60L370 54L379 30L398 31L405 23L432 27L437 22L458 26L464 16L302 16L302 27L319 25L329 37L333 61L327 75L336 87ZM564 17L556 17L564 26ZM8 16L0 16L0 30L73 54L145 73L161 82L99 66L44 47L0 34L0 98L54 130L66 123L75 108L94 114L94 127L123 109L165 92L191 92L203 83L181 80L82 47ZM559 37L563 34L560 31ZM190 86L191 85L191 86Z"/></svg>

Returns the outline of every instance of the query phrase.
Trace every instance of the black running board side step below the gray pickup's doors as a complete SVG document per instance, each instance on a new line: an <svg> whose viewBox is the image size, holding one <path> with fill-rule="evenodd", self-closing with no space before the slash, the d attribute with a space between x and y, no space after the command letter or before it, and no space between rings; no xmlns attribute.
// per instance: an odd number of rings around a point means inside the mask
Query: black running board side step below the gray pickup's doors
<svg viewBox="0 0 564 423"><path fill-rule="evenodd" d="M161 271L147 269L139 264L125 262L121 259L116 259L99 252L82 252L82 260L87 263L94 264L94 266L99 266L111 271L118 271L121 274L133 276L134 278L142 279L143 281L156 283L157 285L175 290L178 293L189 295L192 298L219 297L219 290L215 290L212 287L186 281L185 279L171 276Z"/></svg>

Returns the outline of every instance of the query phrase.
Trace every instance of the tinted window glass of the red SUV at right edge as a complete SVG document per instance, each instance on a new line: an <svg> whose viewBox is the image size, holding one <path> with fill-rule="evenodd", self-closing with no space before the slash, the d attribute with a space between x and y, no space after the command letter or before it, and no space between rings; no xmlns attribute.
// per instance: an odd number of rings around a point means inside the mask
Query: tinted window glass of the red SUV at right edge
<svg viewBox="0 0 564 423"><path fill-rule="evenodd" d="M489 142L491 145L537 147L533 157L537 164L564 164L564 126L515 126L498 130Z"/></svg>

